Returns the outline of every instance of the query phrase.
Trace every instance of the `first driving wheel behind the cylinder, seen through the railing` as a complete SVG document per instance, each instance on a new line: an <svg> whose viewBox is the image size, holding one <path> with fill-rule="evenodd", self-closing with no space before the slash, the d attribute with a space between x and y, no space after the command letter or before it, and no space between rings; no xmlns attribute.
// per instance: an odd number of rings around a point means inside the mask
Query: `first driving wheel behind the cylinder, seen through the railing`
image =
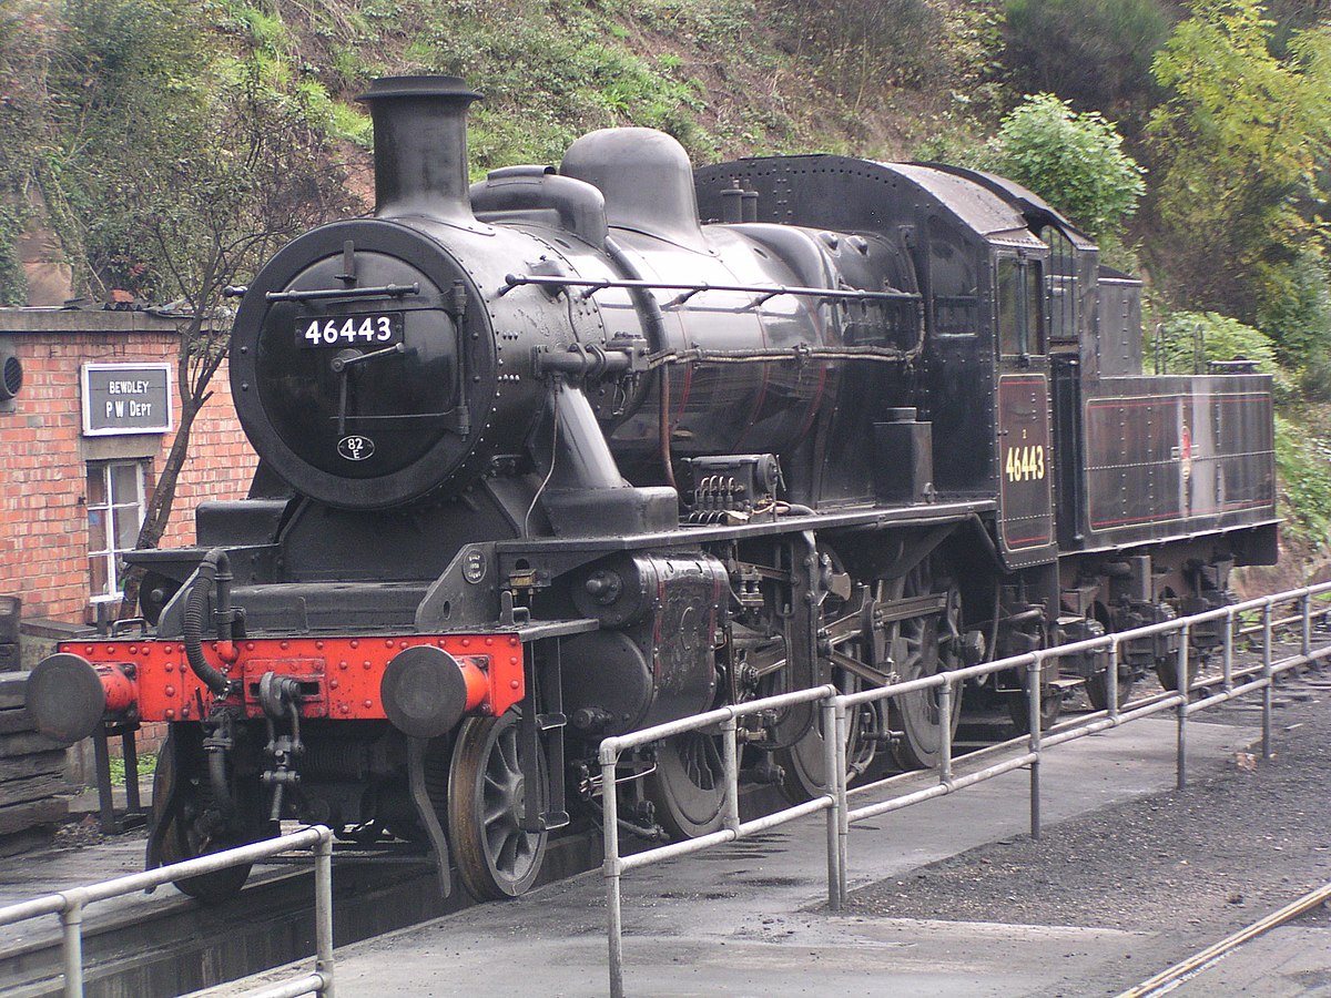
<svg viewBox="0 0 1331 998"><path fill-rule="evenodd" d="M707 732L666 739L656 748L656 769L643 781L656 821L672 838L697 838L725 820L725 768L721 740Z"/></svg>

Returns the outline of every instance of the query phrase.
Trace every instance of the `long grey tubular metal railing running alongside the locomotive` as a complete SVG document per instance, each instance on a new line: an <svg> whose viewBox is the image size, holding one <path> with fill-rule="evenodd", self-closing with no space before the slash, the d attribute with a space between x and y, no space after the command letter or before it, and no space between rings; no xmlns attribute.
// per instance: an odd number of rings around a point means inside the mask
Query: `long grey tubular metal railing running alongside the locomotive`
<svg viewBox="0 0 1331 998"><path fill-rule="evenodd" d="M849 857L851 826L870 817L886 814L934 797L956 793L968 786L993 780L1017 769L1030 770L1030 834L1040 838L1041 828L1041 761L1044 754L1057 745L1065 745L1091 735L1121 727L1142 717L1150 717L1173 711L1177 723L1177 782L1182 789L1187 785L1187 721L1199 711L1227 703L1248 693L1262 692L1262 756L1271 757L1271 713L1272 685L1278 676L1291 669L1320 661L1331 656L1331 644L1314 649L1312 624L1316 617L1323 623L1331 616L1331 583L1291 589L1272 596L1262 596L1227 607L1218 607L1187 617L1149 624L1131 631L1119 631L1099 637L1086 639L1055 648L1042 648L1025 655L1017 655L990 663L981 663L961 669L950 669L933 676L893 683L857 693L841 693L835 687L824 685L812 689L784 693L763 700L723 707L695 717L685 717L669 724L644 728L600 743L600 769L603 788L603 833L606 860L603 876L606 880L607 937L610 949L610 994L623 998L623 905L620 880L624 873L651 864L663 862L689 853L708 849L713 845L732 842L747 834L783 825L805 814L827 812L828 821L828 906L840 912L847 900L847 864ZM1323 601L1320 607L1315 603ZM1292 604L1294 612L1276 616L1276 608ZM1218 675L1193 675L1190 661L1190 636L1199 628L1223 621L1221 631ZM1275 659L1274 633L1276 628L1298 625L1300 647L1296 655ZM1118 667L1123 645L1129 641L1157 635L1178 632L1177 680L1173 691L1165 691L1118 703ZM1235 663L1235 639L1240 636L1260 637L1260 661L1250 665ZM1103 673L1106 684L1106 709L1055 724L1047 732L1041 729L1040 677L1049 660L1086 652L1109 652L1109 668ZM1016 739L990 745L965 757L966 772L958 773L953 758L952 727L940 725L940 760L933 772L937 782L924 789L902 793L862 806L851 806L852 796L881 794L897 789L905 780L918 780L920 770L877 780L851 790L847 785L847 732L849 711L880 700L908 693L937 691L938 716L950 717L954 697L960 684L996 672L1018 669L1024 673L1024 687L1030 731ZM1098 681L1098 680L1097 680ZM1199 699L1193 699L1198 696ZM833 732L824 739L824 765L832 774L828 793L791 808L768 814L763 818L741 822L739 820L739 750L736 747L735 719L760 711L780 709L795 704L819 704L823 716L823 731ZM723 828L705 836L681 842L658 846L630 857L620 856L619 821L615 793L607 792L615 786L619 756L639 745L662 739L700 731L719 731L721 740L721 761L724 769ZM997 758L997 761L992 761ZM978 765L980 768L972 768ZM929 772L929 770L924 770Z"/></svg>

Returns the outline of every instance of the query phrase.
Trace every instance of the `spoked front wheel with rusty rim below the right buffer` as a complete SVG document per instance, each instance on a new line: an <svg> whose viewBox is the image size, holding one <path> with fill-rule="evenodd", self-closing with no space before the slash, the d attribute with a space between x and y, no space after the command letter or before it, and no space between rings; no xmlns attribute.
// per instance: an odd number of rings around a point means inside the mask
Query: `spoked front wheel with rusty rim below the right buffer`
<svg viewBox="0 0 1331 998"><path fill-rule="evenodd" d="M449 770L449 838L462 885L478 901L518 897L540 874L546 832L522 828L520 715L469 717ZM544 758L538 757L540 778Z"/></svg>

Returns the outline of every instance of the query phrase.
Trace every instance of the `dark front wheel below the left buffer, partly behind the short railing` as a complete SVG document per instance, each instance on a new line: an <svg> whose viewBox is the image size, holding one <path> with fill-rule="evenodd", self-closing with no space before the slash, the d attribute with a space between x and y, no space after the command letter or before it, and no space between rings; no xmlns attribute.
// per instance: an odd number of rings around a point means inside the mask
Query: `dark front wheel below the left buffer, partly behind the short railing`
<svg viewBox="0 0 1331 998"><path fill-rule="evenodd" d="M213 806L208 773L200 766L200 776L185 780L174 788L176 801L172 802L172 786L176 782L176 748L178 735L166 736L161 753L157 756L157 769L153 772L152 826L157 829L168 822L161 832L161 846L157 854L162 866L173 862L194 860L208 853L248 845L264 837L264 828L256 826L250 834L236 832L226 826L221 814ZM170 812L168 813L168 804ZM253 822L260 825L260 822ZM236 897L249 878L252 864L229 866L216 873L202 873L173 881L176 888L206 905L220 905Z"/></svg>

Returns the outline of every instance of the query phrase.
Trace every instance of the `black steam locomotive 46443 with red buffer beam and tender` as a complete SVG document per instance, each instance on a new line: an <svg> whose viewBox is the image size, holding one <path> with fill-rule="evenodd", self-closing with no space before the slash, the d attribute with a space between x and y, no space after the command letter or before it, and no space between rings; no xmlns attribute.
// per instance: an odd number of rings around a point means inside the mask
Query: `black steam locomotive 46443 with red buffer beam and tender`
<svg viewBox="0 0 1331 998"><path fill-rule="evenodd" d="M137 635L31 677L59 737L170 723L150 866L298 817L518 894L611 792L608 735L1169 619L1274 562L1268 379L1143 375L1139 283L1029 192L837 156L693 172L636 128L469 186L476 97L365 94L373 217L244 289L250 496L202 504L196 548L132 555ZM1070 684L1103 707L1114 679L1170 681L1175 652L1044 676L1045 720ZM1026 721L1018 676L968 696ZM925 693L866 708L852 774L932 764L942 724ZM753 778L825 785L812 711L741 737ZM667 740L620 813L711 830L719 766L715 736Z"/></svg>

